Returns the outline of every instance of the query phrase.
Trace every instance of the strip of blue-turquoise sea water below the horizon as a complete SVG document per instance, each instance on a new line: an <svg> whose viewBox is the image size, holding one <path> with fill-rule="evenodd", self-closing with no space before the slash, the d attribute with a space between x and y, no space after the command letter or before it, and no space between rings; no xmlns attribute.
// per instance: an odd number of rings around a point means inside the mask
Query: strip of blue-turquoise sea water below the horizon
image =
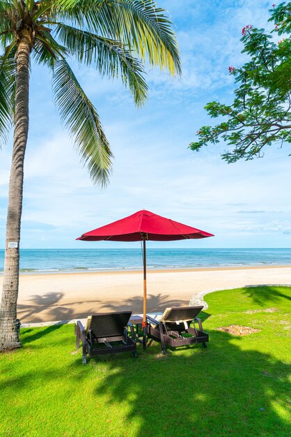
<svg viewBox="0 0 291 437"><path fill-rule="evenodd" d="M0 250L0 274L4 251ZM291 249L147 249L148 269L291 266ZM138 270L141 249L22 249L20 272L94 272Z"/></svg>

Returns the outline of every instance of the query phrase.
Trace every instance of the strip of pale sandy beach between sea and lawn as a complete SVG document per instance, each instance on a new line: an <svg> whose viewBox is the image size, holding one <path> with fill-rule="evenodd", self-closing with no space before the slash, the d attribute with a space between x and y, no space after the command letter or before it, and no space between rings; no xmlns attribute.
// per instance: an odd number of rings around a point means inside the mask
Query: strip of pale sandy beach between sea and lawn
<svg viewBox="0 0 291 437"><path fill-rule="evenodd" d="M0 286L3 276L0 277ZM148 272L148 311L188 305L198 292L291 283L291 267L237 267ZM84 318L97 311L141 313L141 272L22 274L18 317L22 323Z"/></svg>

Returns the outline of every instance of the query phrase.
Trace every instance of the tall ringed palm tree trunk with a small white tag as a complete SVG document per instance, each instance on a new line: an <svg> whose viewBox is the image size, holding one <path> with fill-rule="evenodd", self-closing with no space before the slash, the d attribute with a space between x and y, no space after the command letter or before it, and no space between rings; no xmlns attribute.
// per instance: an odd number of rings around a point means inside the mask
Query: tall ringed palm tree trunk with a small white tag
<svg viewBox="0 0 291 437"><path fill-rule="evenodd" d="M31 45L23 37L19 42L17 50L14 144L9 182L5 264L0 307L0 350L19 348L21 346L17 332L16 317L24 154L29 131L30 52Z"/></svg>

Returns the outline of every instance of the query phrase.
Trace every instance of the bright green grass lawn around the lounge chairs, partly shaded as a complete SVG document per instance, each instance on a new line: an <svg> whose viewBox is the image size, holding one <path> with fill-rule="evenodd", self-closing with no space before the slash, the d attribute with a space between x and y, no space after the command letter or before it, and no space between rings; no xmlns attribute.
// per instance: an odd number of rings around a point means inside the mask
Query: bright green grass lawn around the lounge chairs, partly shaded
<svg viewBox="0 0 291 437"><path fill-rule="evenodd" d="M0 356L0 436L290 436L291 288L223 290L205 300L207 349L166 356L153 342L145 353L138 345L136 359L84 366L73 325L22 329L24 347ZM216 329L228 325L260 332Z"/></svg>

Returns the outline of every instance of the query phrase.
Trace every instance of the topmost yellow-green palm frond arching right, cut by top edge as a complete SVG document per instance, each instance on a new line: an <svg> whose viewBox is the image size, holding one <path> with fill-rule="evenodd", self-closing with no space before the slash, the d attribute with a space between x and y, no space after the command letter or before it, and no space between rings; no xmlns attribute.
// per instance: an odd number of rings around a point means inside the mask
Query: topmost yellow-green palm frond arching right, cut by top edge
<svg viewBox="0 0 291 437"><path fill-rule="evenodd" d="M181 73L171 20L152 0L63 0L60 17L106 38L120 40L151 66Z"/></svg>

